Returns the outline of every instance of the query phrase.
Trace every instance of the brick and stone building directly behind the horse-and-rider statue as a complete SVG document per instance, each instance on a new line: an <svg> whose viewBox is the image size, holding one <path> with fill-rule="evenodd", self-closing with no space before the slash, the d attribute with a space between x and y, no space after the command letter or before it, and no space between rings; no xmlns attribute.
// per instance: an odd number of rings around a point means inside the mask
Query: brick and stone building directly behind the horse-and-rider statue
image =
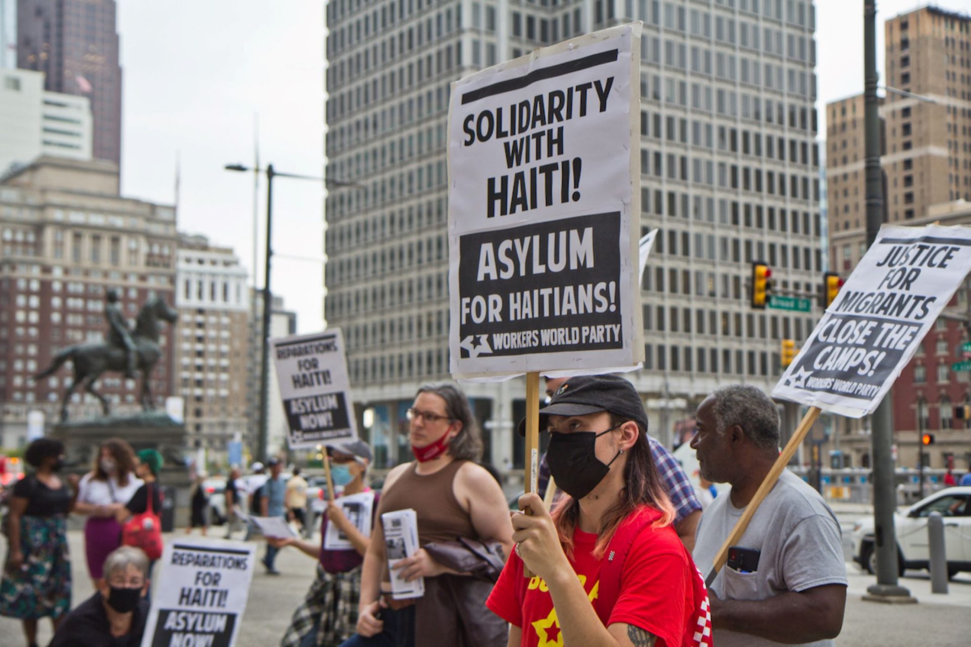
<svg viewBox="0 0 971 647"><path fill-rule="evenodd" d="M112 162L41 157L0 179L0 445L22 443L30 410L58 419L70 363L39 381L32 375L61 348L103 339L108 288L130 319L152 293L175 303L176 244L175 208L119 195ZM171 393L174 339L162 324L156 406ZM141 387L120 373L96 385L118 413L140 410ZM73 419L101 410L83 388L70 402Z"/></svg>

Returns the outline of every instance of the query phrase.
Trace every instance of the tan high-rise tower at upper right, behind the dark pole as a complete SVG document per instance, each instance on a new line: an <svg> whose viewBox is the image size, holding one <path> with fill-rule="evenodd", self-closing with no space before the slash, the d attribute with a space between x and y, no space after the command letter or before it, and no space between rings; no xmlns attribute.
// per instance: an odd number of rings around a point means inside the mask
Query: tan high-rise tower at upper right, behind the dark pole
<svg viewBox="0 0 971 647"><path fill-rule="evenodd" d="M912 225L934 205L971 201L971 16L921 7L885 33L885 212ZM862 95L826 105L826 151L830 254L844 272L866 251Z"/></svg>

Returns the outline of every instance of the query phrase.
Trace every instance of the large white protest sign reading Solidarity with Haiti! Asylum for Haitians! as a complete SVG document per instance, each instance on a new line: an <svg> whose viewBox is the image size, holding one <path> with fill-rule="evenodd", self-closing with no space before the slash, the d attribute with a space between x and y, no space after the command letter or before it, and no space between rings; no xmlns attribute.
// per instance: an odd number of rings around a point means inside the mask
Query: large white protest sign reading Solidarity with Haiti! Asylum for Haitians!
<svg viewBox="0 0 971 647"><path fill-rule="evenodd" d="M643 359L640 34L605 29L452 83L456 377Z"/></svg>

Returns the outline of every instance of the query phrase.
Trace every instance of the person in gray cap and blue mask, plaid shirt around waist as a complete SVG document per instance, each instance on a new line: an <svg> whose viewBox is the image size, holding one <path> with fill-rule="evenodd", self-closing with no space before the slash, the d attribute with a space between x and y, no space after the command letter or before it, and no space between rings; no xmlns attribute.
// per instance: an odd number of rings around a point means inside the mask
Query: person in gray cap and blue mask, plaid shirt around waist
<svg viewBox="0 0 971 647"><path fill-rule="evenodd" d="M334 464L331 473L336 477L345 469L351 476L344 483L344 496L327 501L327 515L320 526L320 543L295 537L267 537L276 548L296 546L303 553L318 560L317 579L311 584L303 603L290 620L281 647L324 647L336 645L351 637L357 625L357 600L361 589L361 564L370 544L370 535L363 534L345 514L343 499L370 495L371 510L377 509L378 496L367 486L367 469L371 465L371 448L362 440L354 440L339 447L327 447ZM335 480L343 480L337 479ZM351 548L329 548L329 524L334 524L346 536ZM369 526L373 527L372 518Z"/></svg>

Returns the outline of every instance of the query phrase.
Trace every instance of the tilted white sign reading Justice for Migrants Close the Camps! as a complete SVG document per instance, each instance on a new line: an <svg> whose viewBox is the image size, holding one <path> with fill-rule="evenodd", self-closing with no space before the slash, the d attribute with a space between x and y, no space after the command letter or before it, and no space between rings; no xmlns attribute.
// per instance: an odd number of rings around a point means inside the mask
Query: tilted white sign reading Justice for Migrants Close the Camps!
<svg viewBox="0 0 971 647"><path fill-rule="evenodd" d="M969 271L971 227L883 227L773 397L872 413Z"/></svg>

